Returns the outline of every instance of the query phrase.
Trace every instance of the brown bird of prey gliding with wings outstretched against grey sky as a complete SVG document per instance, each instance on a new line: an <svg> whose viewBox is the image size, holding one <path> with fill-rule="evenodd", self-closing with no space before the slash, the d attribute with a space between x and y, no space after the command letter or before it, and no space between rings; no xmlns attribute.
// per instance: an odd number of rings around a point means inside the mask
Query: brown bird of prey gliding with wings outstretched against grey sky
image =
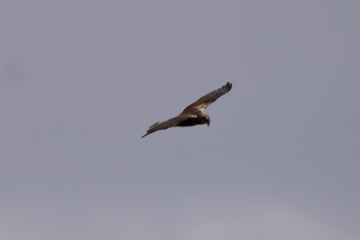
<svg viewBox="0 0 360 240"><path fill-rule="evenodd" d="M207 114L204 114L205 108L207 108L210 104L216 101L216 99L220 98L222 95L228 93L231 90L233 83L226 83L226 85L222 86L218 90L212 91L209 94L199 98L195 103L190 104L188 107L184 109L179 116L171 118L165 122L157 122L151 125L144 136L149 135L150 133L165 130L169 127L189 127L195 126L198 124L207 124L210 125L210 118Z"/></svg>

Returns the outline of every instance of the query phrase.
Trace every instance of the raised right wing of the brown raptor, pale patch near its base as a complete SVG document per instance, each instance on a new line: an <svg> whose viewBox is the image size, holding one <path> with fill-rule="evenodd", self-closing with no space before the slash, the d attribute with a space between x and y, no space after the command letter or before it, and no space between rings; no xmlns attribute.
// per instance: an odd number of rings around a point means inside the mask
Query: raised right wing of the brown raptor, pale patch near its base
<svg viewBox="0 0 360 240"><path fill-rule="evenodd" d="M218 90L212 91L205 96L199 98L195 103L190 104L188 107L184 109L181 114L186 114L193 112L194 110L199 110L200 112L204 112L205 108L207 108L210 104L216 101L216 99L220 98L222 95L228 93L231 90L233 83L226 83L226 85L222 86ZM180 114L180 115L181 115Z"/></svg>

